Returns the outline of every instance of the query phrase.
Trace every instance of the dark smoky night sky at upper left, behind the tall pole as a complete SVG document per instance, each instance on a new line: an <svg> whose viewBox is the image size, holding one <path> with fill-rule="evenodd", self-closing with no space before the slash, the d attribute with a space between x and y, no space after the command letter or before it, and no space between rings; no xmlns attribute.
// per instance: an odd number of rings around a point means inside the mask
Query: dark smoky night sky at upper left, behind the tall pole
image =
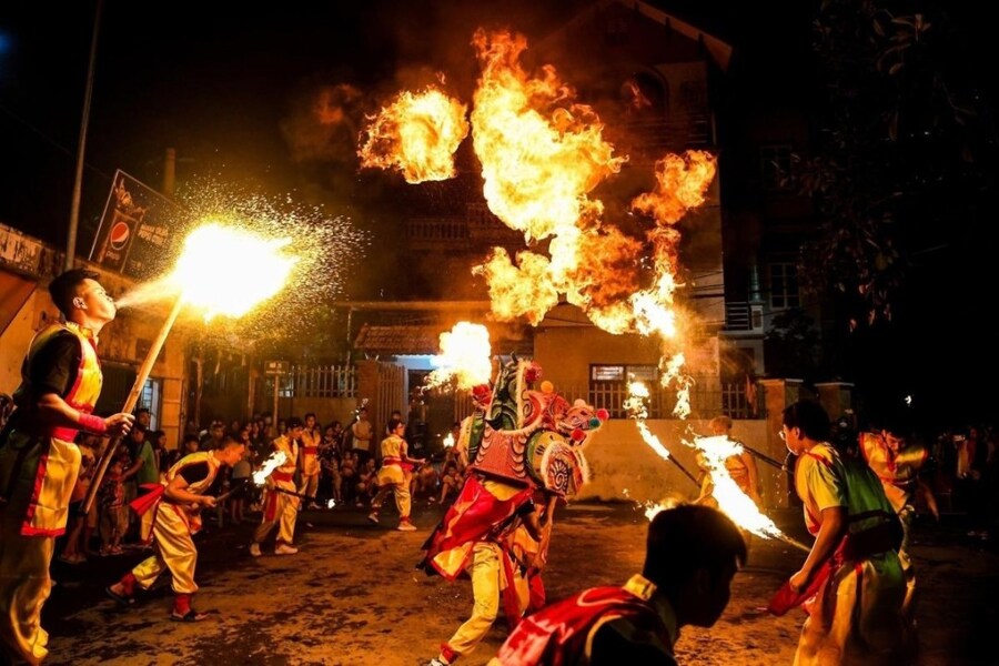
<svg viewBox="0 0 999 666"><path fill-rule="evenodd" d="M295 182L281 123L317 87L365 102L434 71L471 75L477 24L544 34L569 0L431 2L128 2L104 0L87 134L81 241L117 169L153 188L167 148L178 178ZM478 3L475 3L478 4ZM63 244L94 0L0 7L0 223ZM457 71L453 71L457 70Z"/></svg>

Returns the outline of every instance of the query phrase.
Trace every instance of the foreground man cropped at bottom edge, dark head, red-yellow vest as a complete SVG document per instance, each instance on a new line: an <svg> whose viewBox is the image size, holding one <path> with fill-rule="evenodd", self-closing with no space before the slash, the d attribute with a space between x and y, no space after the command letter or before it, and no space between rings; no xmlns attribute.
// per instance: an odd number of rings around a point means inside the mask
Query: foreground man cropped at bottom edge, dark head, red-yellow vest
<svg viewBox="0 0 999 666"><path fill-rule="evenodd" d="M745 563L741 534L722 512L695 505L660 511L648 525L642 575L528 615L490 666L675 665L680 627L714 625Z"/></svg>

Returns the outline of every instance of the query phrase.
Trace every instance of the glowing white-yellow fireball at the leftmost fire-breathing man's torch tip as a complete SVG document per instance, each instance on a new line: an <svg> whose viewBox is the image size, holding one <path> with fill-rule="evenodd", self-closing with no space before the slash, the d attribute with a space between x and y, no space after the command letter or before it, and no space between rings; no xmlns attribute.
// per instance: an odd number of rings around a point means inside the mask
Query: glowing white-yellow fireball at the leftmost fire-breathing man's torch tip
<svg viewBox="0 0 999 666"><path fill-rule="evenodd" d="M233 226L205 224L184 241L169 281L180 289L185 303L204 311L205 319L242 316L287 282L295 259L281 249L289 243L289 238L266 239ZM239 256L244 268L220 262L220 252Z"/></svg>

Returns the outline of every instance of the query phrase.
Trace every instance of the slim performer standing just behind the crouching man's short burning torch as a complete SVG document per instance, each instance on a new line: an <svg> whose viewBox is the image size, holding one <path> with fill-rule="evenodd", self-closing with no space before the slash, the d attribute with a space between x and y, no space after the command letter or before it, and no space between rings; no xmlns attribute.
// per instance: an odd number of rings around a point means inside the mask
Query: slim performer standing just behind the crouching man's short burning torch
<svg viewBox="0 0 999 666"><path fill-rule="evenodd" d="M274 547L275 555L294 555L299 552L292 545L295 537L295 521L299 517L300 498L295 495L282 493L282 488L290 493L297 493L295 487L295 465L299 460L299 441L302 437L302 420L292 416L287 420L287 428L284 434L274 440L274 451L281 451L286 456L284 464L271 472L268 476L266 488L263 497L263 516L260 527L253 535L250 544L250 554L260 557L260 543L268 537L275 525L278 528L278 543Z"/></svg>

